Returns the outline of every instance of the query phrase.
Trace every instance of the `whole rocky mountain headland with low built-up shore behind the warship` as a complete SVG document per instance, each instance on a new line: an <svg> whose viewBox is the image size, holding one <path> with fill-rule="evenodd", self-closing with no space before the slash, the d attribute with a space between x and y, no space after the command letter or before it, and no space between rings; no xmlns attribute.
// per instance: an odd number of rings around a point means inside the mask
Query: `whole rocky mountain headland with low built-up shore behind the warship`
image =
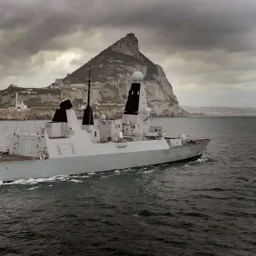
<svg viewBox="0 0 256 256"><path fill-rule="evenodd" d="M186 115L186 112L178 107L177 97L173 94L172 84L166 79L163 68L148 60L140 52L138 40L133 33L127 34L125 38L104 49L84 66L46 88L24 89L9 86L8 89L0 91L0 108L15 106L15 91L19 94L19 100L36 112L30 115L31 117L36 118L38 109L41 109L42 113L47 112L45 119L48 119L49 109L53 111L65 98L71 99L74 107L77 108L84 99L86 100L89 67L91 67L92 81L91 98L96 116L104 112L108 113L109 117L119 117L131 86L132 73L135 71L144 74L148 106L153 108L155 115ZM39 116L42 118L42 115ZM19 115L16 118L19 118ZM0 119L3 119L1 111Z"/></svg>

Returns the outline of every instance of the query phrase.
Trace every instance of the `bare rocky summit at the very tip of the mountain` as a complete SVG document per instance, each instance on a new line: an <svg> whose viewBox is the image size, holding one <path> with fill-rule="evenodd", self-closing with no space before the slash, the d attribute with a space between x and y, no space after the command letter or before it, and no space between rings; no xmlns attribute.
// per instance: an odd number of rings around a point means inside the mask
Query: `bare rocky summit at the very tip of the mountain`
<svg viewBox="0 0 256 256"><path fill-rule="evenodd" d="M134 33L128 33L125 38L119 39L111 46L111 49L125 54L140 58L140 50L138 48L138 40Z"/></svg>

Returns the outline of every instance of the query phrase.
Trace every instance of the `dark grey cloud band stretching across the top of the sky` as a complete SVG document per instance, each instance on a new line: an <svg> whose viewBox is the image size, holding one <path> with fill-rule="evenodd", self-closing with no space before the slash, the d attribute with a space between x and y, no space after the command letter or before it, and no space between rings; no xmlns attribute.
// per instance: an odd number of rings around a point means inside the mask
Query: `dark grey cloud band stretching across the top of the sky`
<svg viewBox="0 0 256 256"><path fill-rule="evenodd" d="M5 13L1 15L0 27L5 30L26 27L16 45L20 45L19 51L23 49L31 54L39 49L65 49L64 45L51 41L77 28L106 26L142 27L151 33L152 44L164 44L169 50L237 51L253 47L252 40L247 40L256 24L253 1L35 0L25 3L14 0L0 3Z"/></svg>

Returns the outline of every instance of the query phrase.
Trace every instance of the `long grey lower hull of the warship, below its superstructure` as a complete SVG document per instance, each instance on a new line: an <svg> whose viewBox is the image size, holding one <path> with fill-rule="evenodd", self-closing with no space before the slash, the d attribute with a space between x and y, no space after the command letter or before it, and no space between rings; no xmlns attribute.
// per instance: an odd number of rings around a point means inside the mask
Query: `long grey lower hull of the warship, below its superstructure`
<svg viewBox="0 0 256 256"><path fill-rule="evenodd" d="M46 178L59 175L79 175L83 173L105 172L140 166L154 166L181 160L200 158L207 148L209 139L195 140L194 145L177 148L152 149L138 148L129 152L127 148L114 153L90 154L46 160L2 160L0 161L0 180L12 182L26 178ZM150 149L150 148L149 148Z"/></svg>

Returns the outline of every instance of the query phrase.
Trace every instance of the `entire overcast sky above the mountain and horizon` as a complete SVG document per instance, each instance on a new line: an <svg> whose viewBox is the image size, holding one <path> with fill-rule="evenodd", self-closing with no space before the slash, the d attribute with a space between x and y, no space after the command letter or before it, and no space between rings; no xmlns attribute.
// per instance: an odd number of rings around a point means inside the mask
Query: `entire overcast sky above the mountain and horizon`
<svg viewBox="0 0 256 256"><path fill-rule="evenodd" d="M0 0L0 89L47 86L128 32L180 105L256 107L256 0Z"/></svg>

